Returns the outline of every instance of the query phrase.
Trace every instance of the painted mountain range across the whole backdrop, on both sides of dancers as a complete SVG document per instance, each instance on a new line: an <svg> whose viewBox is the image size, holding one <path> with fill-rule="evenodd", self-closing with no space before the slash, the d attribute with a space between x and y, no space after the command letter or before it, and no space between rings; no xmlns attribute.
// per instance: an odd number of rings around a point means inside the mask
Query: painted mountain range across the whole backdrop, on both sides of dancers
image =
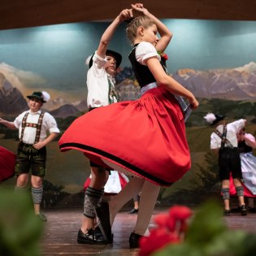
<svg viewBox="0 0 256 256"><path fill-rule="evenodd" d="M127 68L124 68L127 72ZM197 98L221 98L235 101L256 100L256 63L248 63L233 69L215 69L196 71L182 69L172 75L181 85L194 93ZM19 80L19 77L15 77ZM122 80L123 78L123 80ZM121 81L120 81L121 80ZM120 72L116 85L122 100L134 100L140 97L140 88L135 80ZM66 118L78 116L88 111L86 99L71 102L53 98L44 104L44 109L54 117ZM0 70L0 115L15 116L28 108L27 100L19 89L12 85Z"/></svg>

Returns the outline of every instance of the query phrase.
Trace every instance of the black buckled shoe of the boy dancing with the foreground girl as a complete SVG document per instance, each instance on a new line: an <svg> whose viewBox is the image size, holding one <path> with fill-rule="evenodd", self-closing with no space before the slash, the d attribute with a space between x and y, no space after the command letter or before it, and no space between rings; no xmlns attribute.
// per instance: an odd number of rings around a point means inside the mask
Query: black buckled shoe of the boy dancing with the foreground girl
<svg viewBox="0 0 256 256"><path fill-rule="evenodd" d="M79 244L89 244L89 245L107 245L108 241L103 235L95 236L95 232L93 228L90 228L88 232L85 234L81 230L79 230L77 235L77 242Z"/></svg>

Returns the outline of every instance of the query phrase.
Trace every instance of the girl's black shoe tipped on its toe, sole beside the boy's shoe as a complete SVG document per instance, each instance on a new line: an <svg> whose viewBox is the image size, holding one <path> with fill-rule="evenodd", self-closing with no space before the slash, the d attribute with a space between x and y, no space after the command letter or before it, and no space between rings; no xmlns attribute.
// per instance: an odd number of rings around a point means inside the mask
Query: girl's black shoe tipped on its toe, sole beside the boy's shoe
<svg viewBox="0 0 256 256"><path fill-rule="evenodd" d="M99 228L101 228L102 234L105 236L106 240L111 241L112 232L111 232L111 216L110 208L108 202L101 202L95 207L96 215L99 220Z"/></svg>

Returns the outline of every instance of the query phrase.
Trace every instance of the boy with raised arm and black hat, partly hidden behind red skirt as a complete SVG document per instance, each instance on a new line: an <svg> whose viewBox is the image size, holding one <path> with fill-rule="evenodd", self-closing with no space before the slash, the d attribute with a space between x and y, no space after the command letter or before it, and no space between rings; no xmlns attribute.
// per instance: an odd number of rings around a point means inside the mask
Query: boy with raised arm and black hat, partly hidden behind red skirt
<svg viewBox="0 0 256 256"><path fill-rule="evenodd" d="M111 103L119 102L119 95L115 90L115 70L119 67L122 56L108 50L107 46L115 29L124 20L131 18L132 12L128 9L123 10L115 20L106 28L98 45L98 50L89 59L89 71L87 73L88 97L87 105L89 111ZM98 117L99 119L101 116ZM82 225L77 235L77 242L82 244L101 245L112 241L102 235L97 227L94 227L95 207L101 202L104 194L104 185L108 179L108 171L98 166L97 163L90 161L91 181L85 191L84 217Z"/></svg>

